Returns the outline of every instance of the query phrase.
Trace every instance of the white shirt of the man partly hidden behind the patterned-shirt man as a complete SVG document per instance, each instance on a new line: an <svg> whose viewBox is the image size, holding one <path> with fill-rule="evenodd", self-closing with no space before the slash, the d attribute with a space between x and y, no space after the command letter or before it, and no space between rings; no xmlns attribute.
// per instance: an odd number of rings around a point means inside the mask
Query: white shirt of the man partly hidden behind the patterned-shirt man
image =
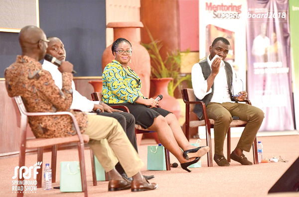
<svg viewBox="0 0 299 197"><path fill-rule="evenodd" d="M42 68L47 70L52 75L53 80L55 81L55 85L61 89L62 88L62 74L58 70L58 67L51 62L44 60L42 64ZM73 89L73 102L71 105L71 109L78 109L81 111L92 111L94 108L94 104L99 104L100 101L92 101L83 97L78 93L75 89L75 83L72 81L72 89Z"/></svg>

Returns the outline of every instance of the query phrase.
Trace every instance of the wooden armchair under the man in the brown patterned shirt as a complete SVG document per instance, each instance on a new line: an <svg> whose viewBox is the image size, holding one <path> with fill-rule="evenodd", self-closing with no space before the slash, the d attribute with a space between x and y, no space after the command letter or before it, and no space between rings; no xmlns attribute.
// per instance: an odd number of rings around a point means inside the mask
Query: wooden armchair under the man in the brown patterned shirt
<svg viewBox="0 0 299 197"><path fill-rule="evenodd" d="M57 152L57 145L58 144L66 144L77 142L78 145L78 152L79 152L79 160L80 160L80 169L81 169L81 182L82 182L82 191L84 192L85 197L87 197L87 184L86 184L86 172L85 172L85 162L84 162L84 143L89 141L88 135L83 135L80 132L78 123L75 119L75 116L68 112L27 112L20 96L14 97L15 102L15 112L16 117L18 119L18 127L20 127L20 153L19 153L19 167L25 166L25 151L28 148L37 148L37 162L42 162L43 160L43 147L52 146L52 183L55 183L56 179L56 152ZM71 116L74 127L76 129L77 135L71 137L58 137L58 138L37 138L37 139L26 139L26 126L28 123L27 116L41 116L41 115L69 115ZM37 188L41 188L42 183L42 165L38 170L38 174L36 177L37 181ZM18 176L19 177L19 176ZM22 186L22 181L24 178L19 179L18 186ZM24 193L17 193L17 197L22 197Z"/></svg>

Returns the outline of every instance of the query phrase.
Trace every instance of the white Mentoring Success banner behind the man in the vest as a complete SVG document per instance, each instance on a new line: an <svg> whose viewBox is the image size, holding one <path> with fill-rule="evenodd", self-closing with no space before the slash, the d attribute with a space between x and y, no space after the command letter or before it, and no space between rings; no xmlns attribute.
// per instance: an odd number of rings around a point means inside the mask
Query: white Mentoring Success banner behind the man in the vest
<svg viewBox="0 0 299 197"><path fill-rule="evenodd" d="M246 0L199 1L199 58L207 57L209 47L217 37L230 42L225 59L236 71L237 81L246 88ZM242 87L241 87L242 90Z"/></svg>

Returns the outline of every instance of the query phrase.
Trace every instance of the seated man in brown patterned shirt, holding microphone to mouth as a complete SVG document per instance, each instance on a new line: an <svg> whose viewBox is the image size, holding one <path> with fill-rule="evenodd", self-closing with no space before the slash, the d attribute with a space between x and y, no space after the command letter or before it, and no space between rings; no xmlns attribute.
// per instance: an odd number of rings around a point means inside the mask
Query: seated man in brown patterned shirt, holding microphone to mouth
<svg viewBox="0 0 299 197"><path fill-rule="evenodd" d="M73 65L62 62L58 68L62 73L60 90L51 74L43 70L38 62L43 59L49 42L45 33L35 26L23 27L19 33L19 42L22 55L17 56L16 62L4 71L9 97L21 96L29 112L70 111ZM89 135L91 149L109 174L109 191L130 188L132 191L143 191L157 188L156 184L149 184L140 173L144 164L116 119L71 112L75 114L81 132ZM71 118L67 115L29 117L29 124L37 138L75 135ZM123 179L115 170L118 161L128 177L133 177L132 183Z"/></svg>

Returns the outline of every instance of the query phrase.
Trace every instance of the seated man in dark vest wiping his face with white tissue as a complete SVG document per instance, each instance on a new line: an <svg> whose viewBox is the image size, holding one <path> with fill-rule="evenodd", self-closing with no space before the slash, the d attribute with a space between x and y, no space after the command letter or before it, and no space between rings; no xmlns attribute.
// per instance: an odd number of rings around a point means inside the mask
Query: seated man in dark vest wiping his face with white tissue
<svg viewBox="0 0 299 197"><path fill-rule="evenodd" d="M233 67L224 59L230 49L226 38L216 38L210 46L210 55L207 59L194 64L192 67L192 86L196 100L206 105L208 118L214 119L214 160L218 166L229 166L223 154L225 136L232 122L232 116L247 121L237 147L230 158L242 165L252 165L243 151L249 152L256 134L263 122L264 112L252 105L239 103L247 98L247 92L241 91L234 96L233 88L237 89L236 74ZM217 56L216 56L217 55ZM202 118L202 108L195 104L194 112L199 119Z"/></svg>

